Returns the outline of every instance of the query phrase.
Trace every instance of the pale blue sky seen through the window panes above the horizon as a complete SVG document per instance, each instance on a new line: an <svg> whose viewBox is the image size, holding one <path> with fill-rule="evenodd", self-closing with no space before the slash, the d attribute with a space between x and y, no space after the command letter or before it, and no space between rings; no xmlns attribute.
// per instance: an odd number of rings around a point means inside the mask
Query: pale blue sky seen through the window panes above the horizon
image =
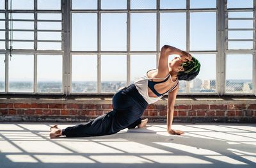
<svg viewBox="0 0 256 168"><path fill-rule="evenodd" d="M25 3L26 2L26 3ZM252 0L228 0L228 8L250 8ZM0 0L3 10L4 0ZM191 0L191 8L215 8L216 0ZM13 0L13 9L33 9L33 0ZM73 0L72 8L97 9L95 0ZM125 9L125 0L102 0L102 9ZM131 0L132 9L156 9L156 0ZM161 0L160 8L186 8L186 0ZM60 0L38 0L38 9L60 10ZM232 12L229 17L252 17L252 12ZM101 49L105 51L126 50L126 13L102 13ZM186 49L186 13L160 14L160 45L173 45ZM190 15L191 50L216 50L216 13L191 12ZM4 19L0 13L0 19ZM13 14L13 19L33 19L33 13ZM60 20L61 14L38 13L38 19ZM252 20L229 20L230 28L252 28ZM13 29L33 29L33 22L13 22ZM0 29L4 29L0 21ZM61 22L38 22L38 29L61 29ZM0 31L0 39L4 39ZM14 32L13 39L33 40L31 32ZM207 37L207 38L205 38ZM252 38L252 31L230 31L228 38ZM61 40L61 33L38 33L38 40ZM0 42L3 49L4 42ZM33 42L13 42L14 48L33 49ZM252 42L230 42L230 49L250 49ZM38 49L61 49L61 43L38 43ZM97 14L72 14L72 50L97 50ZM131 50L156 50L156 13L131 13ZM198 78L216 79L216 56L214 54L195 54L202 68ZM170 56L172 59L173 56ZM0 54L0 80L4 80L4 55ZM243 60L243 61L240 61ZM72 80L97 80L97 56L72 56ZM126 80L127 57L124 55L104 56L101 59L102 80ZM22 64L20 64L22 63ZM38 56L38 80L61 80L61 56ZM209 70L211 67L211 70ZM243 67L243 71L237 67ZM227 56L227 79L252 79L252 55ZM138 79L148 69L156 68L155 55L131 55L131 80ZM12 80L33 80L33 56L13 56L10 61L9 77ZM88 73L89 72L89 73Z"/></svg>

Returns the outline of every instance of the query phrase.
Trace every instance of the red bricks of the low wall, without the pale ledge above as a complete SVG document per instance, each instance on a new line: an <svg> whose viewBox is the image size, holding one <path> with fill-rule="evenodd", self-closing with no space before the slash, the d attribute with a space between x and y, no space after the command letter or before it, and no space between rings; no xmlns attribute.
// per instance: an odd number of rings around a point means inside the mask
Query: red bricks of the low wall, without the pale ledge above
<svg viewBox="0 0 256 168"><path fill-rule="evenodd" d="M198 102L196 102L198 103ZM31 120L36 118L57 119L72 118L72 121L88 121L106 112L111 111L111 104L93 103L0 103L0 120ZM164 121L166 119L166 104L148 105L142 118L149 118L151 121ZM8 119L4 119L8 116ZM19 119L15 119L17 117ZM26 119L22 119L22 118ZM254 123L256 118L256 103L228 103L228 104L182 104L175 105L174 117L177 121L199 122L199 121L237 121ZM77 119L76 119L77 118ZM79 119L78 119L79 118ZM44 121L41 119L40 121ZM51 121L51 120L48 120ZM68 120L67 120L68 121Z"/></svg>

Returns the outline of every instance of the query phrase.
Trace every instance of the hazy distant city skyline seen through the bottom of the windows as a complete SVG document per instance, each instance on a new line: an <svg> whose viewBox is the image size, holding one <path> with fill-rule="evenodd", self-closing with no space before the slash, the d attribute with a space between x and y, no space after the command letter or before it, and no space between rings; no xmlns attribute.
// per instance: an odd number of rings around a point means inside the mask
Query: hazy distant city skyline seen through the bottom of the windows
<svg viewBox="0 0 256 168"><path fill-rule="evenodd" d="M134 81L132 81L134 82ZM132 83L131 82L131 83ZM118 89L127 86L126 81L102 81L101 92L116 92ZM3 91L4 82L0 82L0 92ZM227 80L226 92L230 93L252 93L252 80ZM33 92L33 82L10 82L10 92ZM189 93L216 93L216 80L191 80ZM59 82L38 82L36 93L61 93L62 83ZM72 93L97 93L97 81L74 81L72 82ZM179 93L186 93L186 83L180 80Z"/></svg>

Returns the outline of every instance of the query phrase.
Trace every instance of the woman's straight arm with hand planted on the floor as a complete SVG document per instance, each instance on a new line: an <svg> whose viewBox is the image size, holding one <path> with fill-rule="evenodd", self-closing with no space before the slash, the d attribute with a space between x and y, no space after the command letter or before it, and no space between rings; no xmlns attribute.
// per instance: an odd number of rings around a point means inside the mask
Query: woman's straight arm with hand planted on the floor
<svg viewBox="0 0 256 168"><path fill-rule="evenodd" d="M182 131L172 129L174 105L175 105L178 91L179 91L179 86L168 94L168 108L167 108L167 132L169 134L175 134L175 135L184 134L184 132Z"/></svg>

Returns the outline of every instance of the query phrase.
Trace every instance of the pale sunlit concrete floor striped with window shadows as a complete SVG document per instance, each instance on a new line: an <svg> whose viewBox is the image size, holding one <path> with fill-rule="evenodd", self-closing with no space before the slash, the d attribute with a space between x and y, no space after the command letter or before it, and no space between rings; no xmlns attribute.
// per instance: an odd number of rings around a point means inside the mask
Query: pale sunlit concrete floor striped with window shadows
<svg viewBox="0 0 256 168"><path fill-rule="evenodd" d="M179 136L149 123L104 137L49 139L53 124L1 123L0 167L256 167L255 124L175 123L186 132Z"/></svg>

